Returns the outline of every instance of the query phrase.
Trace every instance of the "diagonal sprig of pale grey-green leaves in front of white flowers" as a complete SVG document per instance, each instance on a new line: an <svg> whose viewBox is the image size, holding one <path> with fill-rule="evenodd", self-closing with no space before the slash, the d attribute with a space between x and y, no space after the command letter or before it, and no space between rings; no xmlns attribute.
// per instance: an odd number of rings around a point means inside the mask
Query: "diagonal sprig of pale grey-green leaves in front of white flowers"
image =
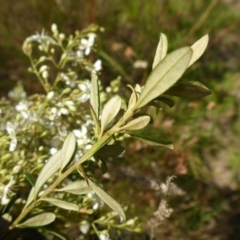
<svg viewBox="0 0 240 240"><path fill-rule="evenodd" d="M73 161L77 147L75 135L70 132L63 143L62 149L43 166L30 191L22 213L11 227L37 227L54 221L56 217L54 213L41 213L20 223L33 208L39 207L42 202L48 202L68 211L79 211L78 203L48 196L49 194L61 192L82 195L93 191L125 220L125 213L121 205L105 192L92 177L90 178L80 164L90 158L105 162L104 158L116 157L124 152L124 148L115 143L116 135L127 134L149 145L173 149L172 143L168 141L136 132L144 129L152 120L146 112L143 114L139 114L139 112L140 110L144 111L144 107L149 106L158 109L158 102L164 102L172 107L174 102L170 98L162 96L163 94L179 97L203 97L210 94L207 87L199 82L177 83L186 69L203 54L207 42L208 36L206 35L191 47L183 47L167 54L167 38L164 34L161 34L152 65L153 70L147 78L146 84L142 87L129 85L132 94L127 103L123 102L120 96L115 95L106 102L102 111L98 77L95 73L92 73L90 110L95 124L95 137L92 139L92 148L82 157ZM121 109L123 111L120 111ZM80 173L81 180L77 179L59 188L59 184L71 173L77 172L76 170ZM82 177L84 177L84 180L82 180ZM45 184L48 184L49 179L53 179L53 183L47 189L42 189Z"/></svg>

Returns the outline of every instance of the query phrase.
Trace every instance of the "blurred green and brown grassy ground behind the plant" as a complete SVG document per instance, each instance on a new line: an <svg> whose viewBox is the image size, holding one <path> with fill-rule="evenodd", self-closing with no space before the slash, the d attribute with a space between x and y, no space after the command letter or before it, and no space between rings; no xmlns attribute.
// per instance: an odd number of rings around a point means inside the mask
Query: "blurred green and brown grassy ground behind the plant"
<svg viewBox="0 0 240 240"><path fill-rule="evenodd" d="M150 72L159 33L170 50L191 45L205 34L210 42L203 57L184 79L203 82L212 95L200 100L175 99L163 108L152 130L172 140L174 151L126 144L125 159L110 167L105 189L129 206L127 214L149 220L160 196L147 180L175 183L185 191L170 199L171 218L156 230L158 239L240 239L240 2L238 0L1 0L0 94L6 96L18 81L29 94L41 92L27 72L21 45L26 37L50 31L52 23L65 33L91 23L104 27L99 35L101 81L108 86L122 77L144 83ZM147 68L134 68L137 60ZM123 94L128 91L122 89ZM147 232L147 229L146 229ZM147 239L146 234L127 235ZM125 238L127 239L127 237Z"/></svg>

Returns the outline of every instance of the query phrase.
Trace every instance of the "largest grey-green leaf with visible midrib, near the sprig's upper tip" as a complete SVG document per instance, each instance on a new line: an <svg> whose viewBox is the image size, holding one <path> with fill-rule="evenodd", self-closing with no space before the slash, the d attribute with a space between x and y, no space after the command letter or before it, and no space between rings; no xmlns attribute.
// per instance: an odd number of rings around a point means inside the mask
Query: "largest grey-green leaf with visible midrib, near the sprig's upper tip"
<svg viewBox="0 0 240 240"><path fill-rule="evenodd" d="M151 72L136 107L141 108L168 90L185 72L192 56L190 47L167 55Z"/></svg>

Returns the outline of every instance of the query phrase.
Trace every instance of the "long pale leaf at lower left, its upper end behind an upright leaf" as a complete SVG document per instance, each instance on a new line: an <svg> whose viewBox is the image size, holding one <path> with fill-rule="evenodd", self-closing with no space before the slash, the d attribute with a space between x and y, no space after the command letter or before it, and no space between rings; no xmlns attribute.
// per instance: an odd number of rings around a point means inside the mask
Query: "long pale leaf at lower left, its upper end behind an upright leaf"
<svg viewBox="0 0 240 240"><path fill-rule="evenodd" d="M47 163L43 166L38 179L35 184L35 193L36 196L42 185L51 178L56 171L58 171L62 165L62 151L58 151L54 154Z"/></svg>

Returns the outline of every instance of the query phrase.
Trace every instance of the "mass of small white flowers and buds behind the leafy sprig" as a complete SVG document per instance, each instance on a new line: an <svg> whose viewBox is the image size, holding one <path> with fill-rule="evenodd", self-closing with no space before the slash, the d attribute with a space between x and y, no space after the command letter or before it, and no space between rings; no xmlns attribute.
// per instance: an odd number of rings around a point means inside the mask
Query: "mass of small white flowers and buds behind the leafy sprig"
<svg viewBox="0 0 240 240"><path fill-rule="evenodd" d="M92 62L93 57L89 58L96 45L96 31L92 26L66 37L53 24L52 35L42 30L25 40L23 51L31 63L29 71L35 74L46 93L28 95L19 82L7 99L0 99L0 208L20 188L29 188L27 181L35 178L47 159L62 147L70 131L77 140L76 160L92 147L94 124L88 105L91 82L86 76L92 72L99 74L102 69L100 59ZM119 85L117 79L107 92L101 91L101 105L118 91ZM103 88L100 82L99 88ZM62 185L76 176L73 174ZM44 185L47 187L48 183ZM62 198L61 194L56 196ZM17 199L19 204L24 201L22 196ZM71 197L68 201L75 199ZM82 196L82 202L81 211L85 214L102 211L103 202L96 194ZM18 209L13 207L12 211ZM95 220L94 216L88 218L87 224L79 223L82 233L89 232ZM108 223L104 224L108 228ZM105 230L99 231L98 237L110 239Z"/></svg>

